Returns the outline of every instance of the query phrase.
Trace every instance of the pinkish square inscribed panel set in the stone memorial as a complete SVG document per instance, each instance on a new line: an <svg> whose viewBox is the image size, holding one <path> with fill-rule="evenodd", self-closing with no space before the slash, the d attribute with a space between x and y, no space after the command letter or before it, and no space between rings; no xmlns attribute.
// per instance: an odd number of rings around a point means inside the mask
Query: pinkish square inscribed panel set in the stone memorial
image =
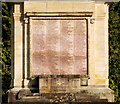
<svg viewBox="0 0 120 104"><path fill-rule="evenodd" d="M87 74L86 20L31 22L31 75Z"/></svg>

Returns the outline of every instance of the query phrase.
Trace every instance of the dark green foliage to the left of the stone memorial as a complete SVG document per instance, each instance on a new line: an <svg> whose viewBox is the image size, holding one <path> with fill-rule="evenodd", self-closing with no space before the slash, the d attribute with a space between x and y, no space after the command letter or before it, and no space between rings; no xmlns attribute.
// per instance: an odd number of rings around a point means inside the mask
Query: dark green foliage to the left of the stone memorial
<svg viewBox="0 0 120 104"><path fill-rule="evenodd" d="M2 101L7 101L11 82L11 3L2 3Z"/></svg>

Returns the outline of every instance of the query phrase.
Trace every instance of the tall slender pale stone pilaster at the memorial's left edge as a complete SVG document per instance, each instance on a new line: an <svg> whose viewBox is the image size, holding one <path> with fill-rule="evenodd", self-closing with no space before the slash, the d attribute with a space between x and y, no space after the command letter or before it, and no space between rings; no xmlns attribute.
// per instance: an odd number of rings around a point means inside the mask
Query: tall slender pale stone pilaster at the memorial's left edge
<svg viewBox="0 0 120 104"><path fill-rule="evenodd" d="M22 4L14 4L14 88L22 88L23 81L23 24Z"/></svg>

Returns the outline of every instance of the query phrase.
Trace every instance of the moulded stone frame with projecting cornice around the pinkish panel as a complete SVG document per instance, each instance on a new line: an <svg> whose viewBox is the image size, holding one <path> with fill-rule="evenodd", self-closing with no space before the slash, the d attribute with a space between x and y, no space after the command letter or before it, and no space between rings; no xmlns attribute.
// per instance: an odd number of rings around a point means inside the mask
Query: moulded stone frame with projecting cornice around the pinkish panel
<svg viewBox="0 0 120 104"><path fill-rule="evenodd" d="M42 12L27 12L26 13L26 17L28 18L28 35L29 35L29 71L28 71L28 78L31 78L31 77L34 77L30 74L31 72L31 69L32 69L32 66L31 66L31 43L32 43L32 39L31 39L31 26L32 26L32 20L48 20L48 19L59 19L59 20L86 20L86 42L87 42L87 45L86 45L86 50L87 50L87 75L86 76L80 76L80 77L87 77L89 78L89 66L88 66L88 26L89 26L89 23L90 23L90 19L92 19L92 12L53 12L53 13L42 13ZM58 75L59 76L59 75ZM60 75L61 76L61 75ZM78 75L77 75L78 76ZM44 77L44 76L43 76Z"/></svg>

